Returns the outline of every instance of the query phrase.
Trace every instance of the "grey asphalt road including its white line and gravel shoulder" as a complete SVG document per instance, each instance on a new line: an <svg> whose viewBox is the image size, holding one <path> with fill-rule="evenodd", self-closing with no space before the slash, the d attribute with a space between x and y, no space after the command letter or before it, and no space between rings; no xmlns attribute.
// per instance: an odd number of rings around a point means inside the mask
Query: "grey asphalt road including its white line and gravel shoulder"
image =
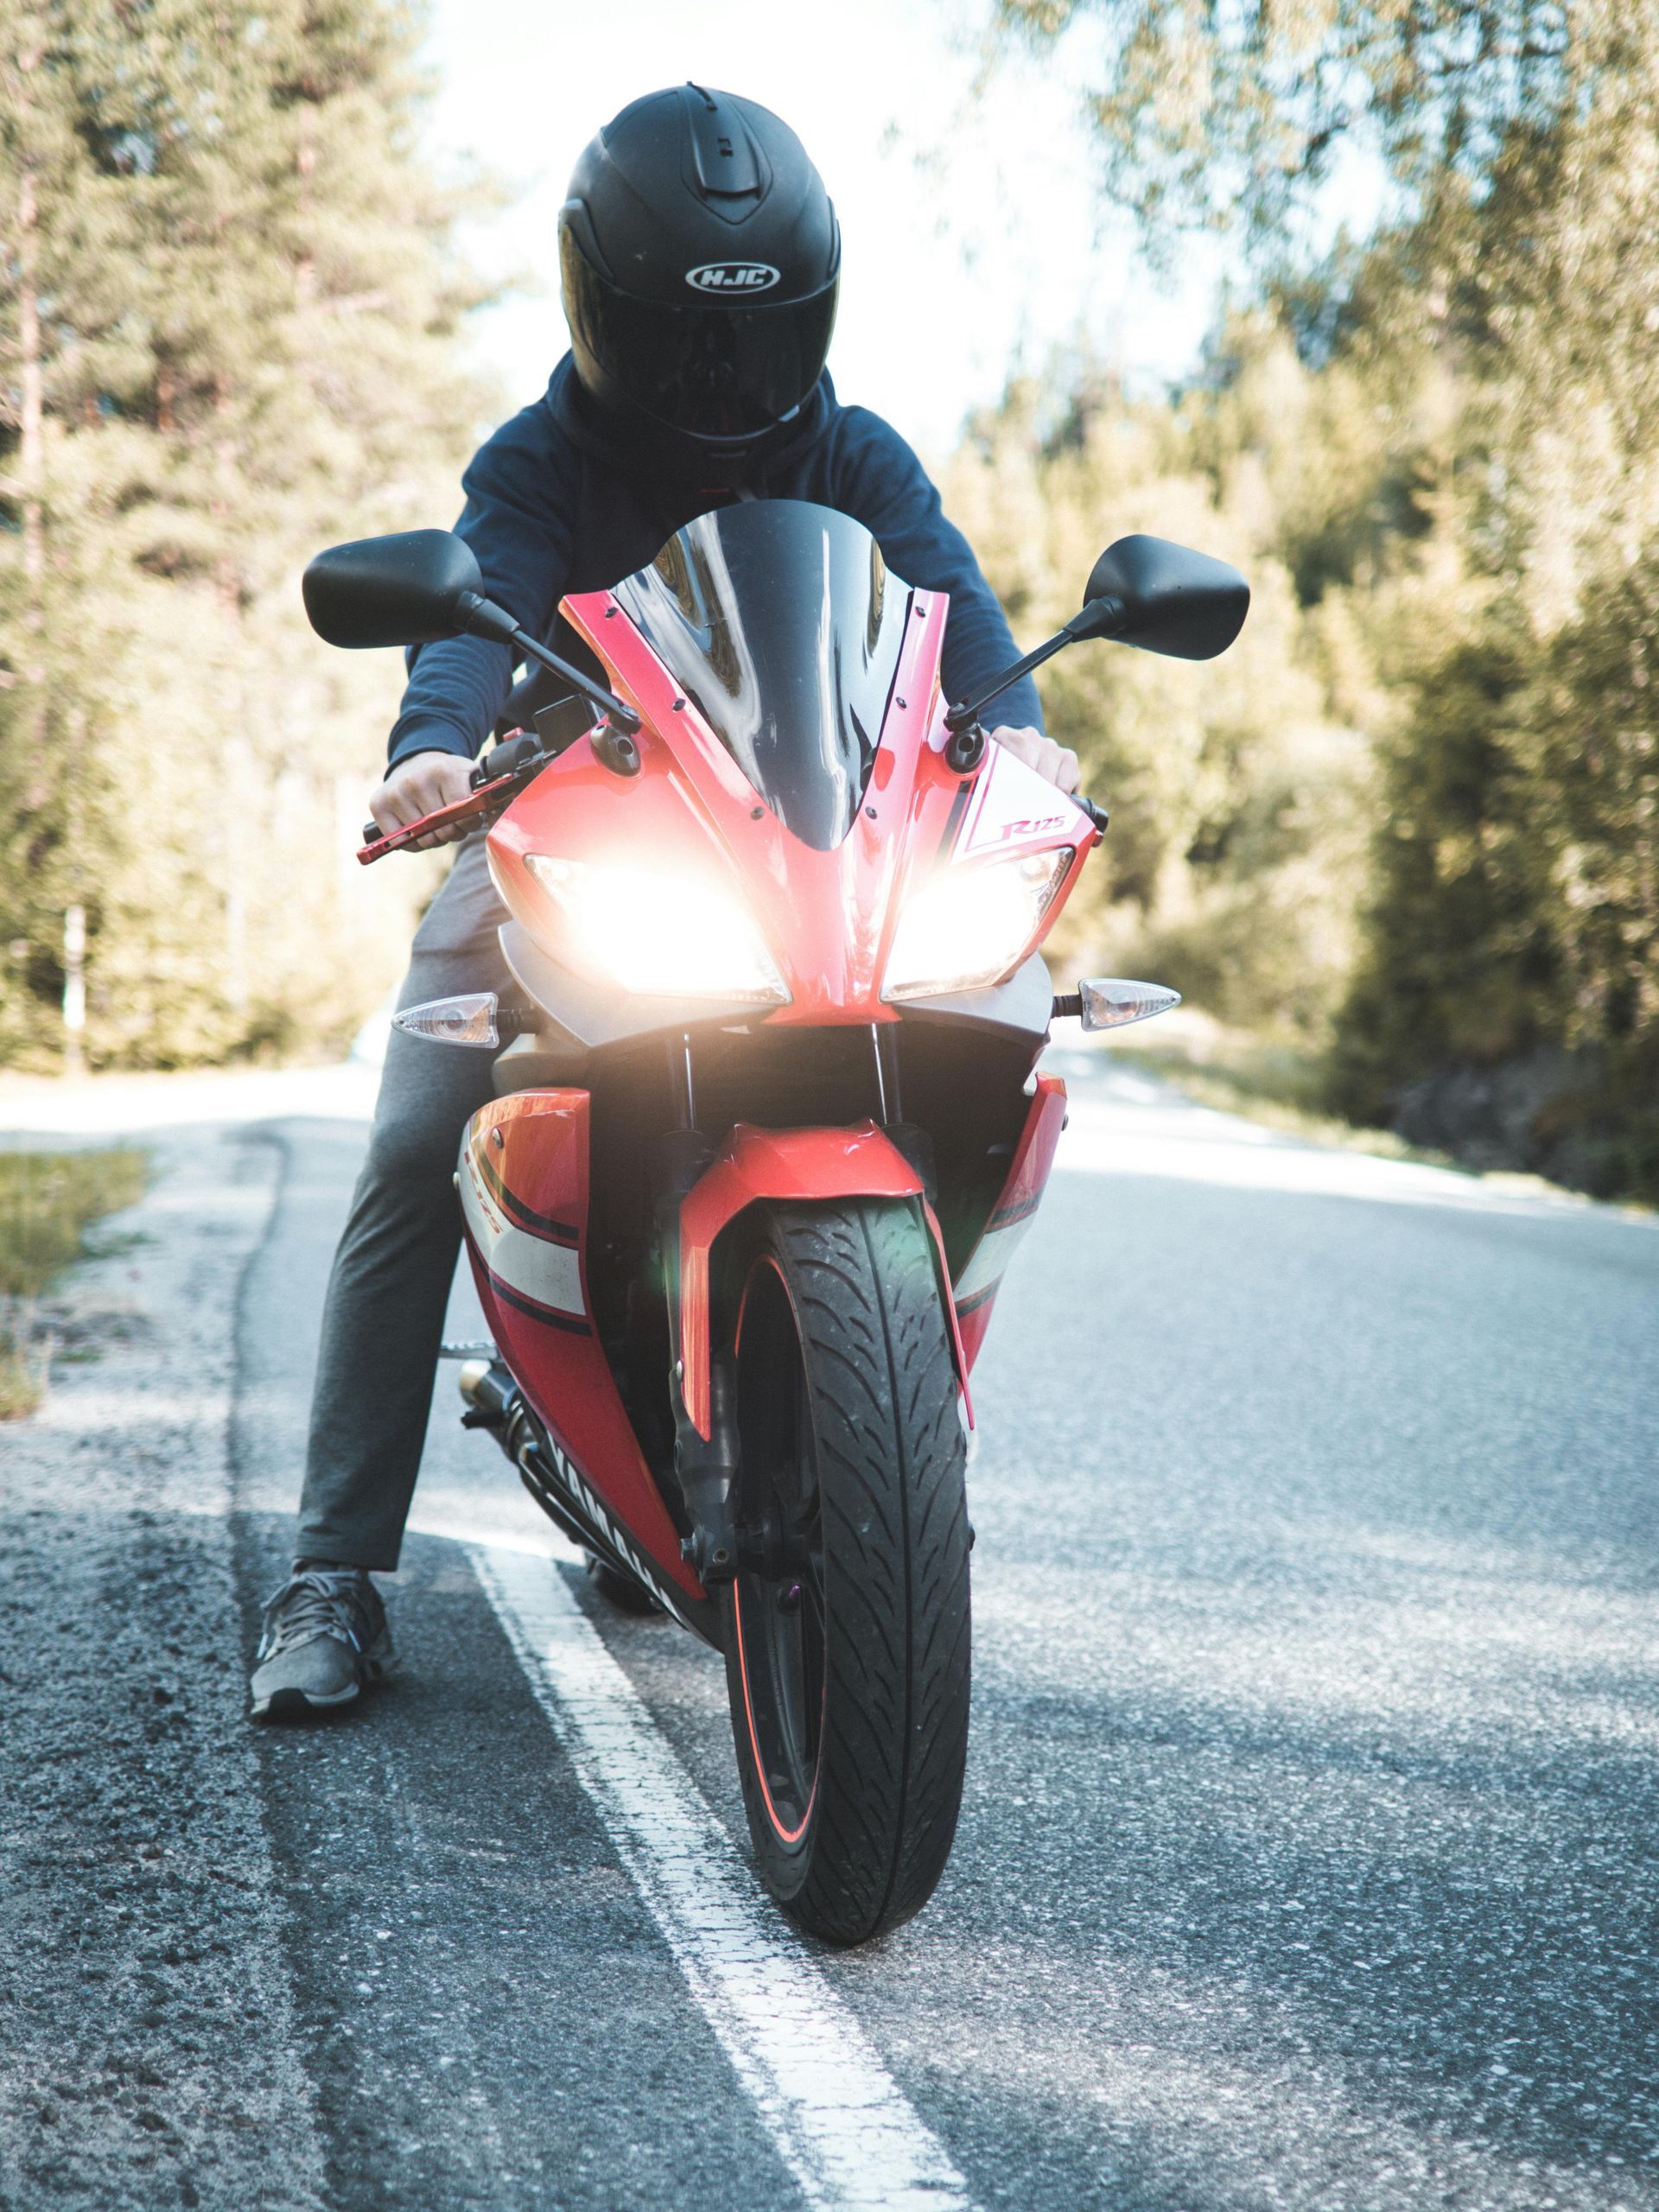
<svg viewBox="0 0 1659 2212"><path fill-rule="evenodd" d="M852 1955L745 1874L719 1661L447 1380L400 1677L243 1728L363 1128L166 1146L0 1438L0 2203L1659 2205L1659 1225L1075 1102L956 1856Z"/></svg>

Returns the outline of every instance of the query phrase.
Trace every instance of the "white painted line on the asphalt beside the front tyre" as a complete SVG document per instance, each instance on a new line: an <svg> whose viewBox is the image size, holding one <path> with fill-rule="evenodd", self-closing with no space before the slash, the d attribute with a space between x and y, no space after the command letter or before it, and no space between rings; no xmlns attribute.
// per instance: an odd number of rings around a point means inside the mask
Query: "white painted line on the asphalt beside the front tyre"
<svg viewBox="0 0 1659 2212"><path fill-rule="evenodd" d="M739 2081L825 2212L971 2212L967 2183L708 1809L551 1559L471 1562Z"/></svg>

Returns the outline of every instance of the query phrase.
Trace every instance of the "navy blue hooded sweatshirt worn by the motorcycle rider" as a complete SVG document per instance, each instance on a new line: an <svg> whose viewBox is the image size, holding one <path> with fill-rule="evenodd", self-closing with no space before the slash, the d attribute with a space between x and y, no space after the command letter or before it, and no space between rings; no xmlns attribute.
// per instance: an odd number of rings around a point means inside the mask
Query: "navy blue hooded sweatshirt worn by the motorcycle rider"
<svg viewBox="0 0 1659 2212"><path fill-rule="evenodd" d="M557 604L608 591L648 566L672 533L732 498L816 500L863 522L894 575L947 591L945 692L964 699L1018 659L1009 624L967 538L945 520L920 460L880 416L843 407L830 376L730 484L677 482L586 398L571 356L531 407L471 458L456 529L478 555L484 593L566 659L604 675ZM482 637L447 637L409 653L409 688L392 726L389 759L476 754L511 686L511 653ZM1042 728L1026 679L998 701L995 721Z"/></svg>

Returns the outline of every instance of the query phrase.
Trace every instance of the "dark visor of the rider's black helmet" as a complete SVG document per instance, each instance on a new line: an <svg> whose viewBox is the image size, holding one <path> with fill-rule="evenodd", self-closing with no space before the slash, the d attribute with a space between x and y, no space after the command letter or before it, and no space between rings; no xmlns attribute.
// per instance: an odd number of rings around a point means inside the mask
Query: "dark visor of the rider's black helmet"
<svg viewBox="0 0 1659 2212"><path fill-rule="evenodd" d="M646 414L697 438L752 438L812 392L830 356L836 279L807 299L684 307L619 292L568 228L560 239L571 336Z"/></svg>

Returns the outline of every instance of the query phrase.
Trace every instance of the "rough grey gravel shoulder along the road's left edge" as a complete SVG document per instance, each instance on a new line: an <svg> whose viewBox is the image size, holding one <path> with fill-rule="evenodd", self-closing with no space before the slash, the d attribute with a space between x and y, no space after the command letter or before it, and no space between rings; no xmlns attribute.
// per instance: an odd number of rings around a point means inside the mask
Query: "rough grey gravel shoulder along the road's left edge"
<svg viewBox="0 0 1659 2212"><path fill-rule="evenodd" d="M232 1575L234 1307L276 1159L155 1137L124 1314L0 1433L0 2199L325 2203Z"/></svg>

